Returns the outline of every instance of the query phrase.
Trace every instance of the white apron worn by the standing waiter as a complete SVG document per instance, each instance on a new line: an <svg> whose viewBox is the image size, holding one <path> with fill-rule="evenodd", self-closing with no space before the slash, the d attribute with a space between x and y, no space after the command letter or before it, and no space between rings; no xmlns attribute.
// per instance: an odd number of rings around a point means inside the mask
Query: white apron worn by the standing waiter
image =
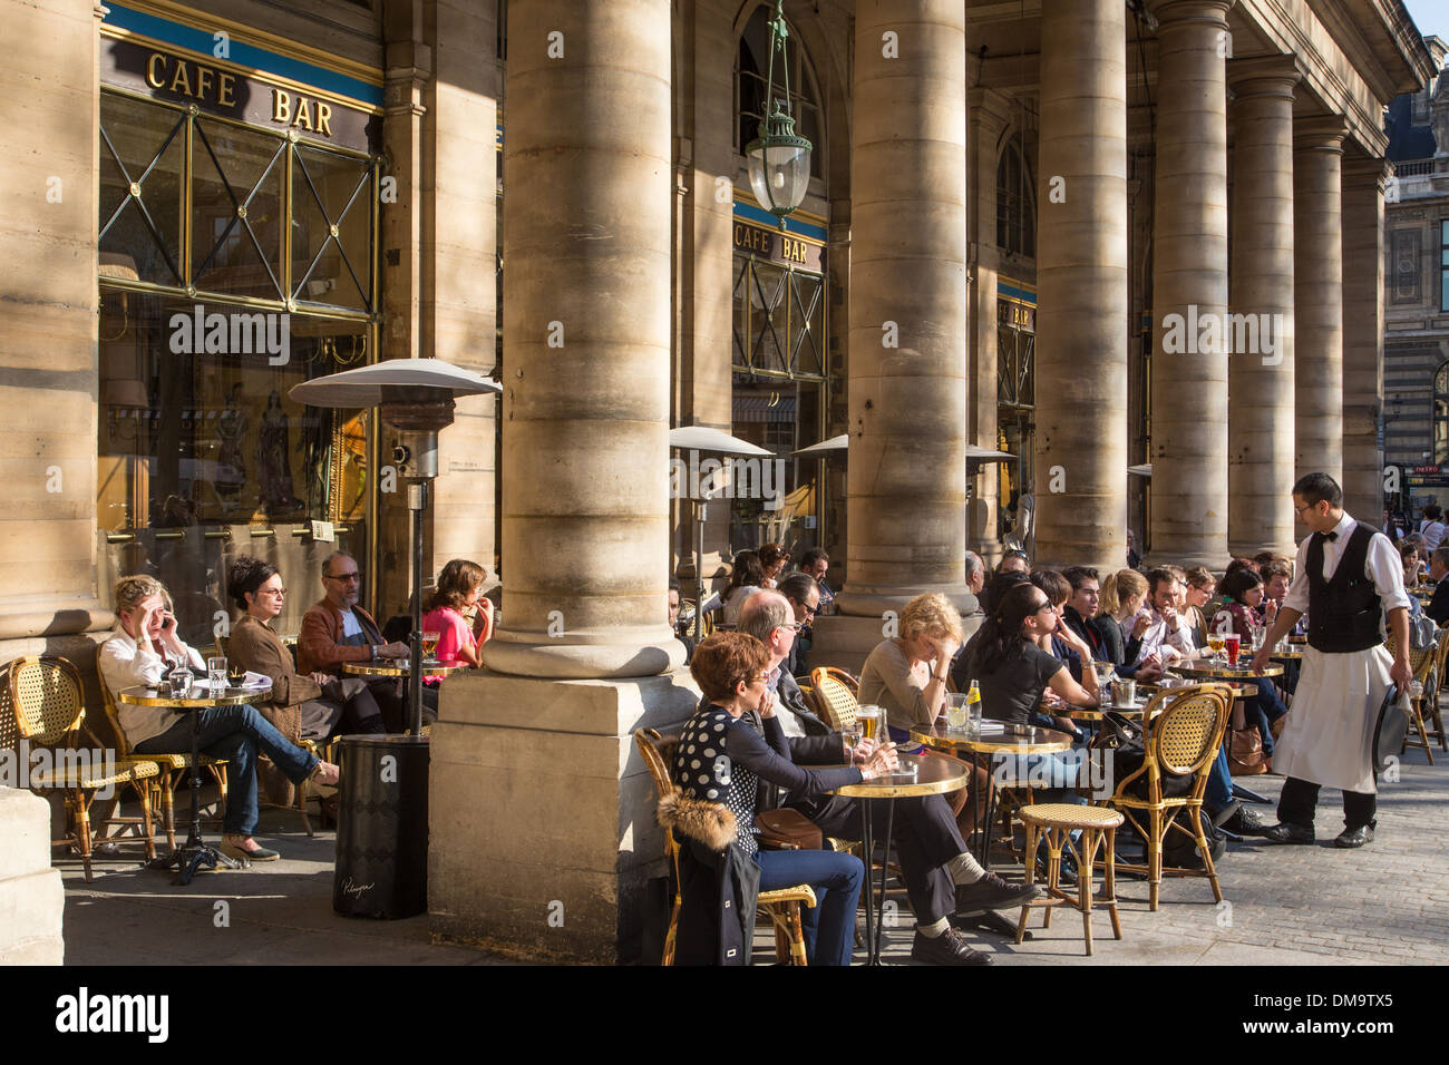
<svg viewBox="0 0 1449 1065"><path fill-rule="evenodd" d="M1274 772L1377 794L1374 729L1394 656L1382 645L1346 655L1303 649L1293 710L1272 752Z"/></svg>

